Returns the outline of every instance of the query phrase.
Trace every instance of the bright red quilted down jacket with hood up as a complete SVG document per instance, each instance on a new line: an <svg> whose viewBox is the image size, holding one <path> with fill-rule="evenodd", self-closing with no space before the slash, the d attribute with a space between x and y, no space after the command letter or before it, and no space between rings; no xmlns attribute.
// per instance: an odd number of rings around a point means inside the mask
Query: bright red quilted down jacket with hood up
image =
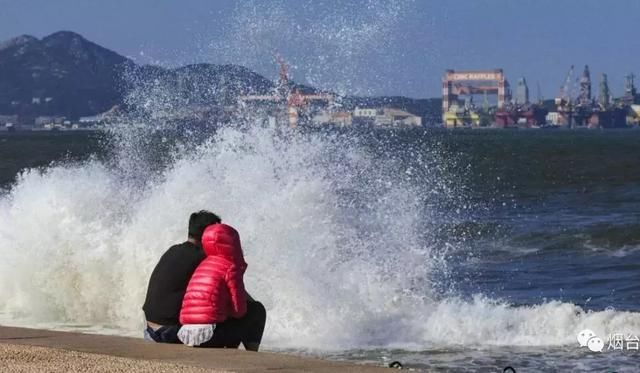
<svg viewBox="0 0 640 373"><path fill-rule="evenodd" d="M215 324L247 312L242 276L247 263L238 232L226 224L214 224L202 235L207 256L196 268L182 300L180 323Z"/></svg>

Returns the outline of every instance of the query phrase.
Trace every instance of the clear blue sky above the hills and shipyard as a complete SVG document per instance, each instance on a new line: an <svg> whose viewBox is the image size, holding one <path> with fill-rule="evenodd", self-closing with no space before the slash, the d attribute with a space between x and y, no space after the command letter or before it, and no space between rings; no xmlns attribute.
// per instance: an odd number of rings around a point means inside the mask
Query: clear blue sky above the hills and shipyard
<svg viewBox="0 0 640 373"><path fill-rule="evenodd" d="M571 65L640 75L638 0L0 0L0 40L59 30L167 67L244 65L342 93L437 97L445 69L502 68L552 98ZM640 79L638 79L640 80Z"/></svg>

